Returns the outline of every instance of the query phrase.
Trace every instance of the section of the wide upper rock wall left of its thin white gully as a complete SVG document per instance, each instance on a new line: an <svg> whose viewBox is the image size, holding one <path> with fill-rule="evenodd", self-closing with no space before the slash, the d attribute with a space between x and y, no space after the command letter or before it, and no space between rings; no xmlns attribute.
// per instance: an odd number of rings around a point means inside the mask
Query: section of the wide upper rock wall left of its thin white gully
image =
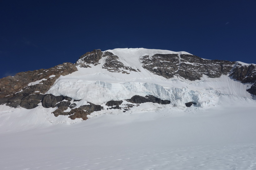
<svg viewBox="0 0 256 170"><path fill-rule="evenodd" d="M143 68L167 79L176 75L180 64L178 54L155 54L152 57L147 55L140 60Z"/></svg>

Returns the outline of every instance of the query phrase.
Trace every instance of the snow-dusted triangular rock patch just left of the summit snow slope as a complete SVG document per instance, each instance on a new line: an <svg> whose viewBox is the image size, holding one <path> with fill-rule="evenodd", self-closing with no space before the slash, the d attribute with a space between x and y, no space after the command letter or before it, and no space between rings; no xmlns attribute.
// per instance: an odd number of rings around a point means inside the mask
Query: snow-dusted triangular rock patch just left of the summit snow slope
<svg viewBox="0 0 256 170"><path fill-rule="evenodd" d="M104 52L102 57L107 57L106 62L104 63L104 69L107 69L110 72L121 72L125 74L130 74L127 71L136 71L132 67L127 67L123 65L122 62L119 61L118 57L110 52ZM137 72L137 71L136 71Z"/></svg>

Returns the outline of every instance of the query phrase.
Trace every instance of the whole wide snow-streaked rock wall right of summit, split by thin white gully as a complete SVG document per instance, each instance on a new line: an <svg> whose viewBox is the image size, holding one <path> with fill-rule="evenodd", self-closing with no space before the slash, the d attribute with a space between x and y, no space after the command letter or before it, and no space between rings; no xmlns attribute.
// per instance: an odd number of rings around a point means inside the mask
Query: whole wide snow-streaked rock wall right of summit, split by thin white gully
<svg viewBox="0 0 256 170"><path fill-rule="evenodd" d="M180 61L179 61L180 57ZM142 56L143 68L167 79L179 75L188 80L200 80L203 74L210 78L227 75L235 62L225 60L206 60L188 54L155 54Z"/></svg>

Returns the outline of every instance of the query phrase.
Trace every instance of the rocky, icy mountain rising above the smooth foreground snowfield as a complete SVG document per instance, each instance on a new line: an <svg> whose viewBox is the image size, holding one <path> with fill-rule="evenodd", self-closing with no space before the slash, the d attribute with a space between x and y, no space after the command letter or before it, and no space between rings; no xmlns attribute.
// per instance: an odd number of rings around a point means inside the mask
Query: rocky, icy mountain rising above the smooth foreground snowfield
<svg viewBox="0 0 256 170"><path fill-rule="evenodd" d="M0 104L5 111L22 108L36 114L40 109L56 123L130 113L142 103L186 109L216 105L225 95L253 99L255 82L255 64L168 50L97 49L75 64L0 79Z"/></svg>

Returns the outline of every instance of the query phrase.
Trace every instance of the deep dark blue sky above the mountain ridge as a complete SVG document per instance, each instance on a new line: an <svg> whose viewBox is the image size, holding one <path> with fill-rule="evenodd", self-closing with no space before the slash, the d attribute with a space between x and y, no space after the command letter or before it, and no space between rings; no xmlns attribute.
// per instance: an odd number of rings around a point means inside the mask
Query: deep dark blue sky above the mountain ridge
<svg viewBox="0 0 256 170"><path fill-rule="evenodd" d="M0 0L0 78L93 49L154 48L256 63L255 0Z"/></svg>

